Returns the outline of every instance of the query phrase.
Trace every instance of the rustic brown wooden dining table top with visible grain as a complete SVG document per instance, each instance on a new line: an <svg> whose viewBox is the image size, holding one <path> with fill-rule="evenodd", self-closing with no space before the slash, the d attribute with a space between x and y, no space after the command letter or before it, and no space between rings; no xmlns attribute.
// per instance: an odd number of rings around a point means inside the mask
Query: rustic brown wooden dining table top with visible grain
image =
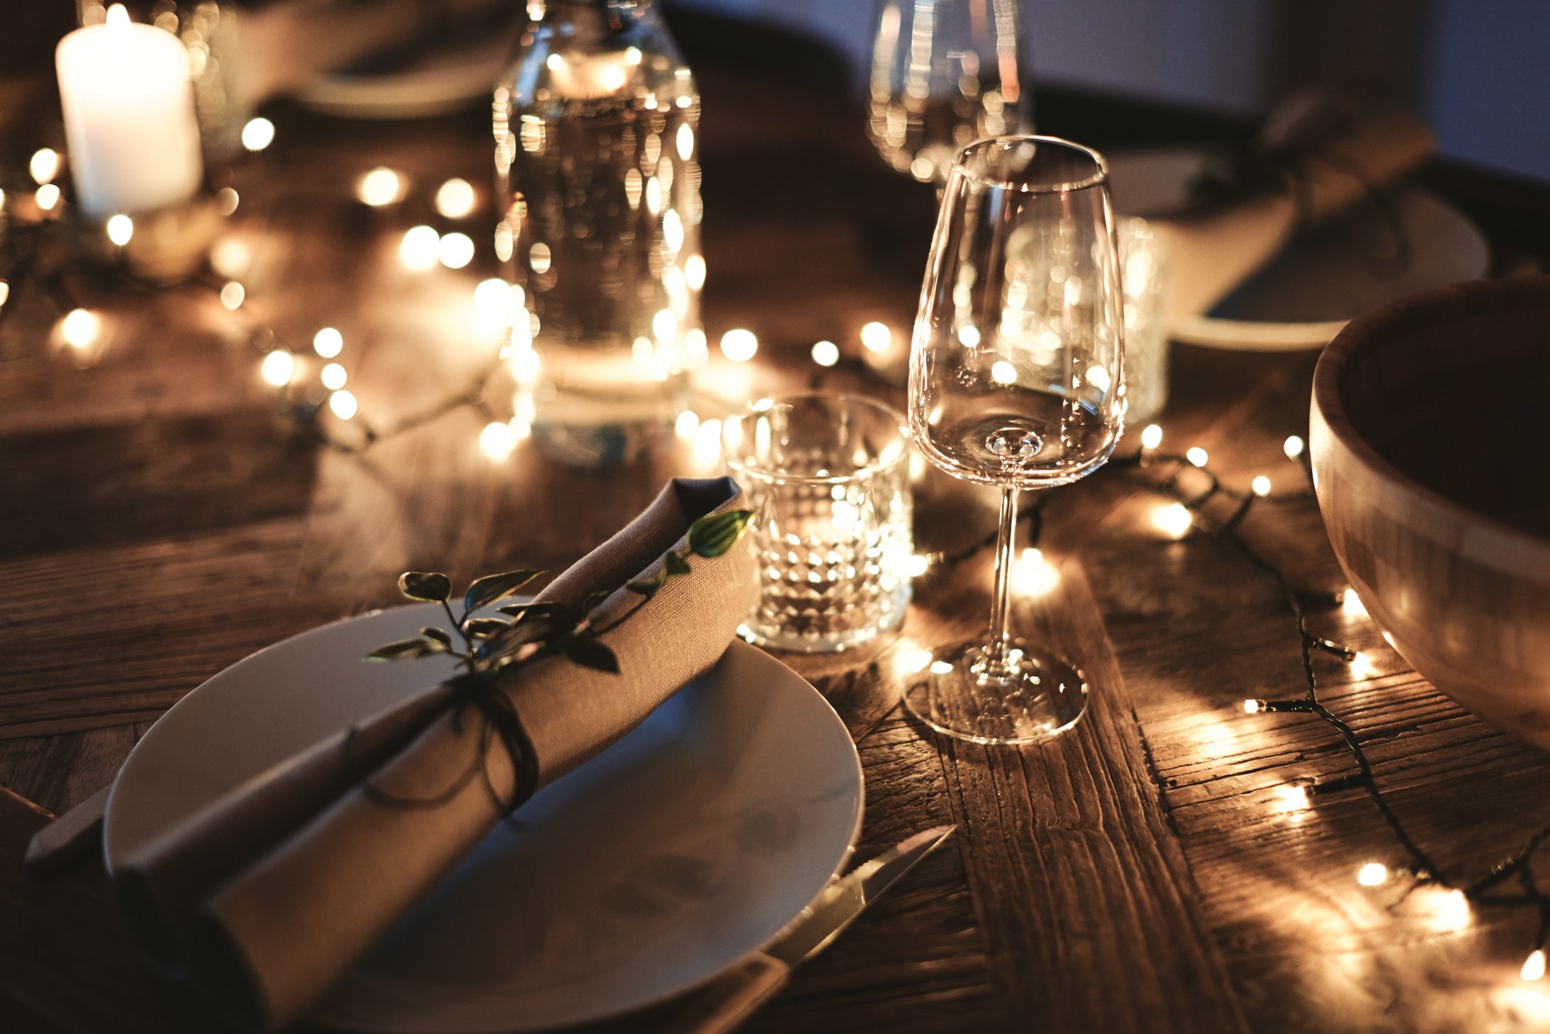
<svg viewBox="0 0 1550 1034"><path fill-rule="evenodd" d="M693 26L690 26L693 29ZM870 150L859 105L784 47L685 31L704 96L701 153L715 405L787 389L904 405L862 361L859 330L908 335L935 197ZM59 138L53 84L12 93L6 153ZM496 274L488 119L479 110L355 122L277 102L276 141L222 171L246 250L232 312L202 279L149 290L88 271L68 302L11 285L0 324L0 1029L203 1029L135 958L99 860L22 871L50 817L107 786L136 739L200 682L287 636L397 601L401 570L467 580L561 569L622 527L673 474L716 470L666 434L612 467L569 467L529 439L477 445L508 406L463 398L494 347L471 308ZM1232 119L1080 91L1040 95L1040 127L1099 147L1243 140ZM400 171L403 202L369 208L361 174ZM463 177L480 206L429 208ZM1485 174L1434 169L1497 245L1533 264L1542 222L1513 219ZM225 181L225 180L223 180ZM1538 205L1531 188L1516 197ZM1517 209L1522 211L1522 209ZM1536 215L1536 217L1538 217ZM406 226L477 243L463 270L406 270ZM64 304L101 315L91 349L60 344ZM259 375L273 341L344 339L367 448L298 420ZM267 336L267 335L273 335ZM818 339L840 344L834 367ZM1198 446L1221 482L1271 481L1242 533L1299 588L1338 592L1304 468L1316 352L1176 346L1164 451ZM730 384L730 388L728 388ZM738 398L742 394L744 397ZM429 419L420 419L436 414ZM405 429L394 433L400 423ZM353 440L353 439L350 439ZM1116 456L1133 454L1127 433ZM1018 589L1015 625L1085 671L1091 707L1051 743L986 747L901 707L910 660L980 634L990 606L995 498L938 471L914 484L916 549L936 558L897 632L856 651L777 654L834 705L865 770L859 857L908 834L956 834L749 1023L749 1031L1516 1031L1550 1025L1545 981L1519 978L1534 915L1449 912L1435 888L1358 868L1406 863L1352 760L1307 715L1246 715L1304 690L1276 583L1203 527L1159 521L1162 470L1111 464L1052 490L1037 547L1054 572ZM1166 516L1166 515L1164 515ZM1032 533L1025 522L1025 535ZM1032 539L1028 539L1032 544ZM1451 702L1362 614L1314 629L1367 662L1318 657L1322 699L1356 732L1395 812L1440 863L1483 873L1550 820L1550 760ZM1313 797L1297 789L1327 783ZM608 1029L668 1029L674 1003Z"/></svg>

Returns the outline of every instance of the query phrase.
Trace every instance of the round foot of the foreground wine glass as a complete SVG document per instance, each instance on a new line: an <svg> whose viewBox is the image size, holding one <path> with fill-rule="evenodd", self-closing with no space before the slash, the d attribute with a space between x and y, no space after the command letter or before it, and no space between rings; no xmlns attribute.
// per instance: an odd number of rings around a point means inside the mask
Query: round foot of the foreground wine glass
<svg viewBox="0 0 1550 1034"><path fill-rule="evenodd" d="M904 690L904 705L939 733L984 744L1059 736L1087 712L1080 670L1014 640L1003 663L983 645L938 653Z"/></svg>

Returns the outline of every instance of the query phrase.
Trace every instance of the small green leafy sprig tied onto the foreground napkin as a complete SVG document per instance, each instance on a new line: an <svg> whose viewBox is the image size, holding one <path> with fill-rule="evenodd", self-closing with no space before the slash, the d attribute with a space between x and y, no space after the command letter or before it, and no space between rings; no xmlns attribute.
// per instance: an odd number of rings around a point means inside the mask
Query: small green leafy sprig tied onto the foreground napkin
<svg viewBox="0 0 1550 1034"><path fill-rule="evenodd" d="M592 611L612 595L609 589L586 597L580 612L563 603L532 600L496 608L504 617L479 614L544 574L507 570L476 578L463 592L462 614L454 614L451 578L440 572L408 570L398 577L398 591L411 600L440 603L460 645L453 639L453 632L431 625L422 628L418 636L378 646L366 654L366 660L417 660L432 654L451 654L457 657L457 665L471 674L494 674L516 663L561 654L584 668L618 674L618 657L601 642L601 636L634 617L668 578L691 574L688 563L691 555L713 558L732 549L742 538L752 518L752 510L727 510L694 521L685 536L684 549L668 550L656 575L625 583L625 588L640 600L618 619L601 626L592 622Z"/></svg>

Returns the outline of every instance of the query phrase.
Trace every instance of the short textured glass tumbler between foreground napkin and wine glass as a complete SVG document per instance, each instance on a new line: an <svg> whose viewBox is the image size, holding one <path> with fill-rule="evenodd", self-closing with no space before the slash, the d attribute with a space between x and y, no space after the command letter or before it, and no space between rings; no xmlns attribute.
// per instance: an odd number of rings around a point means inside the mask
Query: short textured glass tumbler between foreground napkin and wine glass
<svg viewBox="0 0 1550 1034"><path fill-rule="evenodd" d="M834 653L904 620L913 550L904 414L870 398L761 400L722 425L749 493L760 601L739 629L775 650Z"/></svg>

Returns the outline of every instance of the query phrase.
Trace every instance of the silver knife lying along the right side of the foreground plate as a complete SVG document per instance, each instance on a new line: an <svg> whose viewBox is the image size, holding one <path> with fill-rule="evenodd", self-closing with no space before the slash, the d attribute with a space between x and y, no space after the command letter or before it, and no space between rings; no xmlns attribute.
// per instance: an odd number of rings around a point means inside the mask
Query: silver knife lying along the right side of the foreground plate
<svg viewBox="0 0 1550 1034"><path fill-rule="evenodd" d="M775 935L764 950L691 995L687 1011L670 1025L671 1029L684 1034L725 1034L742 1023L786 986L795 966L826 949L866 905L914 868L956 826L922 829L829 881L818 898Z"/></svg>

